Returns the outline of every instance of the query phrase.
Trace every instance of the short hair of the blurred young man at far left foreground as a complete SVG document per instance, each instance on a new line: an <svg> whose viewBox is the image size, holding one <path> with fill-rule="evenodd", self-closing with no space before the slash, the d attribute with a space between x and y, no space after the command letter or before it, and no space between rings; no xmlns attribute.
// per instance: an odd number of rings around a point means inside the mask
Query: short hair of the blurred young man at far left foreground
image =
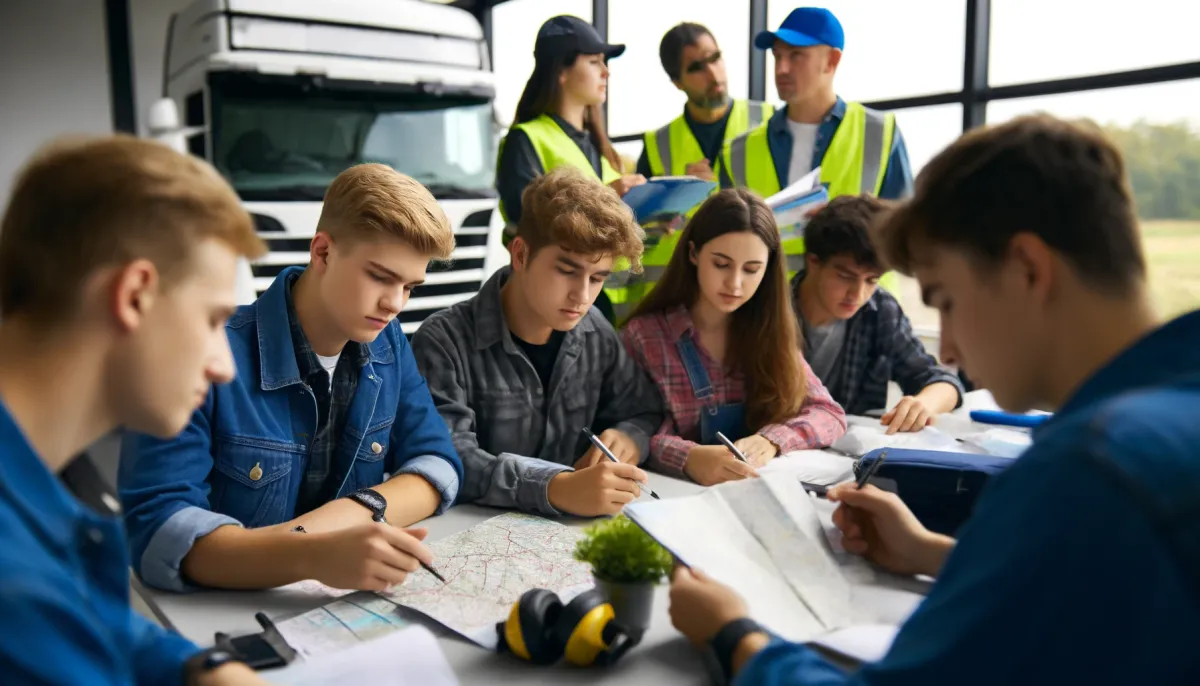
<svg viewBox="0 0 1200 686"><path fill-rule="evenodd" d="M0 315L56 323L96 270L134 259L169 287L206 239L247 258L265 252L206 162L132 136L60 139L22 170L0 224Z"/></svg>

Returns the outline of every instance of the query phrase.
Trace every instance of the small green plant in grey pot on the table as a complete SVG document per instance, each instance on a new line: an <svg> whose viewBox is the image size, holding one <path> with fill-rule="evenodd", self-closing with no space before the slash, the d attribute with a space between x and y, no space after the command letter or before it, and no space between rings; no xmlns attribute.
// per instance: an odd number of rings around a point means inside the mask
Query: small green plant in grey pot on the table
<svg viewBox="0 0 1200 686"><path fill-rule="evenodd" d="M612 603L617 621L636 632L650 625L654 586L671 573L671 553L629 517L618 514L588 526L575 559L592 565L596 588Z"/></svg>

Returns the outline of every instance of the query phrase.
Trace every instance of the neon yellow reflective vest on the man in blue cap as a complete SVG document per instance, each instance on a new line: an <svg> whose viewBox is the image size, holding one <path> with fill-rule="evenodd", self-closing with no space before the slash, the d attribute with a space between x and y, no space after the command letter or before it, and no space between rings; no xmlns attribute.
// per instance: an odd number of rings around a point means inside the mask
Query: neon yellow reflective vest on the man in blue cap
<svg viewBox="0 0 1200 686"><path fill-rule="evenodd" d="M877 195L887 175L894 134L894 114L866 109L857 102L847 103L846 114L821 160L821 182L828 187L829 197ZM734 138L725 155L724 162L736 186L750 188L764 198L781 189L766 127Z"/></svg>

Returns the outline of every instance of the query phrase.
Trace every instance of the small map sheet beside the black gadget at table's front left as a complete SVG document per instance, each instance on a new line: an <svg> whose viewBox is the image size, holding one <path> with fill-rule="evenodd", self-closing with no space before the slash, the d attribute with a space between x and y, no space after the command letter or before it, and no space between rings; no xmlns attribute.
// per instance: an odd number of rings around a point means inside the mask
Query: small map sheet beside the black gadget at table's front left
<svg viewBox="0 0 1200 686"><path fill-rule="evenodd" d="M368 591L358 591L275 626L288 645L302 657L312 658L341 652L409 626L400 613L395 603Z"/></svg>

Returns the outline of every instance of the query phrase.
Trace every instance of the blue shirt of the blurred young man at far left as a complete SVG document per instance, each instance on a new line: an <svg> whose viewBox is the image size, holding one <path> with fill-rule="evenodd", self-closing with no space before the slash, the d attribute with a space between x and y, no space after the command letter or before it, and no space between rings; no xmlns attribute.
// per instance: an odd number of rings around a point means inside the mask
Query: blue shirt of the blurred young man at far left
<svg viewBox="0 0 1200 686"><path fill-rule="evenodd" d="M86 510L0 404L0 681L182 684L199 652L130 607L119 519Z"/></svg>

